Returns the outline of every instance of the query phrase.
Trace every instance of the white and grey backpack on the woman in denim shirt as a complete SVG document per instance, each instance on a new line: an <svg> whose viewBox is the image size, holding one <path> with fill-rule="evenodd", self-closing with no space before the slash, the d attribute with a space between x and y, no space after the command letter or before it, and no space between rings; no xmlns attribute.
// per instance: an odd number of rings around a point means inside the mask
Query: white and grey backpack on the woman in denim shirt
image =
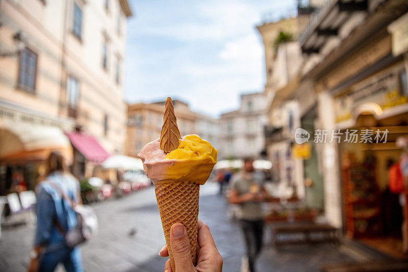
<svg viewBox="0 0 408 272"><path fill-rule="evenodd" d="M60 186L52 182L50 182L50 184L57 190L62 199L69 204L75 212L75 217L77 217L77 225L68 231L64 230L57 218L54 218L54 225L64 237L65 243L69 248L74 248L75 246L95 237L98 234L99 225L94 209L88 205L75 203L71 197L63 193Z"/></svg>

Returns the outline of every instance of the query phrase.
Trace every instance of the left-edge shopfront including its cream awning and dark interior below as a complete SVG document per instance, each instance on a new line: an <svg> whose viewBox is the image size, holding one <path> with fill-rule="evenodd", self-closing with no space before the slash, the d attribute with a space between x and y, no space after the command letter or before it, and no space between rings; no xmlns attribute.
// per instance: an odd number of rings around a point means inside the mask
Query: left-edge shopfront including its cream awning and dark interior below
<svg viewBox="0 0 408 272"><path fill-rule="evenodd" d="M72 149L58 127L2 123L0 127L0 194L33 190L45 174L44 161L60 151L68 163Z"/></svg>

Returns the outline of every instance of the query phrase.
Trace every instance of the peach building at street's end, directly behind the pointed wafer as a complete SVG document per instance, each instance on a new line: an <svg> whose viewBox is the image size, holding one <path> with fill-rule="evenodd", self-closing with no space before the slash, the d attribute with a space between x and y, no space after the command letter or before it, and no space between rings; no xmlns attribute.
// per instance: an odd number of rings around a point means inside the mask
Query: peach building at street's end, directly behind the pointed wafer
<svg viewBox="0 0 408 272"><path fill-rule="evenodd" d="M160 137L163 126L165 101L156 103L137 103L127 106L126 155L137 156L142 147ZM174 112L180 134L197 134L217 148L218 120L204 114L193 112L188 104L173 100Z"/></svg>

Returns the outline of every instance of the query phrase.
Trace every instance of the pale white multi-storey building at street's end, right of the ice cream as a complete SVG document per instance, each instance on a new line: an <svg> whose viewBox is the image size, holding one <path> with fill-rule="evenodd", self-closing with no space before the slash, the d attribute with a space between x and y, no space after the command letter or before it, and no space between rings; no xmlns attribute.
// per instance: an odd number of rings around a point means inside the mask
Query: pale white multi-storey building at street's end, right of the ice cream
<svg viewBox="0 0 408 272"><path fill-rule="evenodd" d="M241 94L238 110L221 114L220 159L260 158L265 147L265 96Z"/></svg>

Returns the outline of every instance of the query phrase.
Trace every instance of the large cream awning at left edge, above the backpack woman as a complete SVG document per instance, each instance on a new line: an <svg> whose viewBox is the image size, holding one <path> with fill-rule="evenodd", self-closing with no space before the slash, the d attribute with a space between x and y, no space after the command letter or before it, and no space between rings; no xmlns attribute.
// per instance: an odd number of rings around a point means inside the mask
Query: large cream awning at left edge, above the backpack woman
<svg viewBox="0 0 408 272"><path fill-rule="evenodd" d="M0 126L0 160L44 160L53 150L61 151L70 161L71 146L58 127L6 122Z"/></svg>

